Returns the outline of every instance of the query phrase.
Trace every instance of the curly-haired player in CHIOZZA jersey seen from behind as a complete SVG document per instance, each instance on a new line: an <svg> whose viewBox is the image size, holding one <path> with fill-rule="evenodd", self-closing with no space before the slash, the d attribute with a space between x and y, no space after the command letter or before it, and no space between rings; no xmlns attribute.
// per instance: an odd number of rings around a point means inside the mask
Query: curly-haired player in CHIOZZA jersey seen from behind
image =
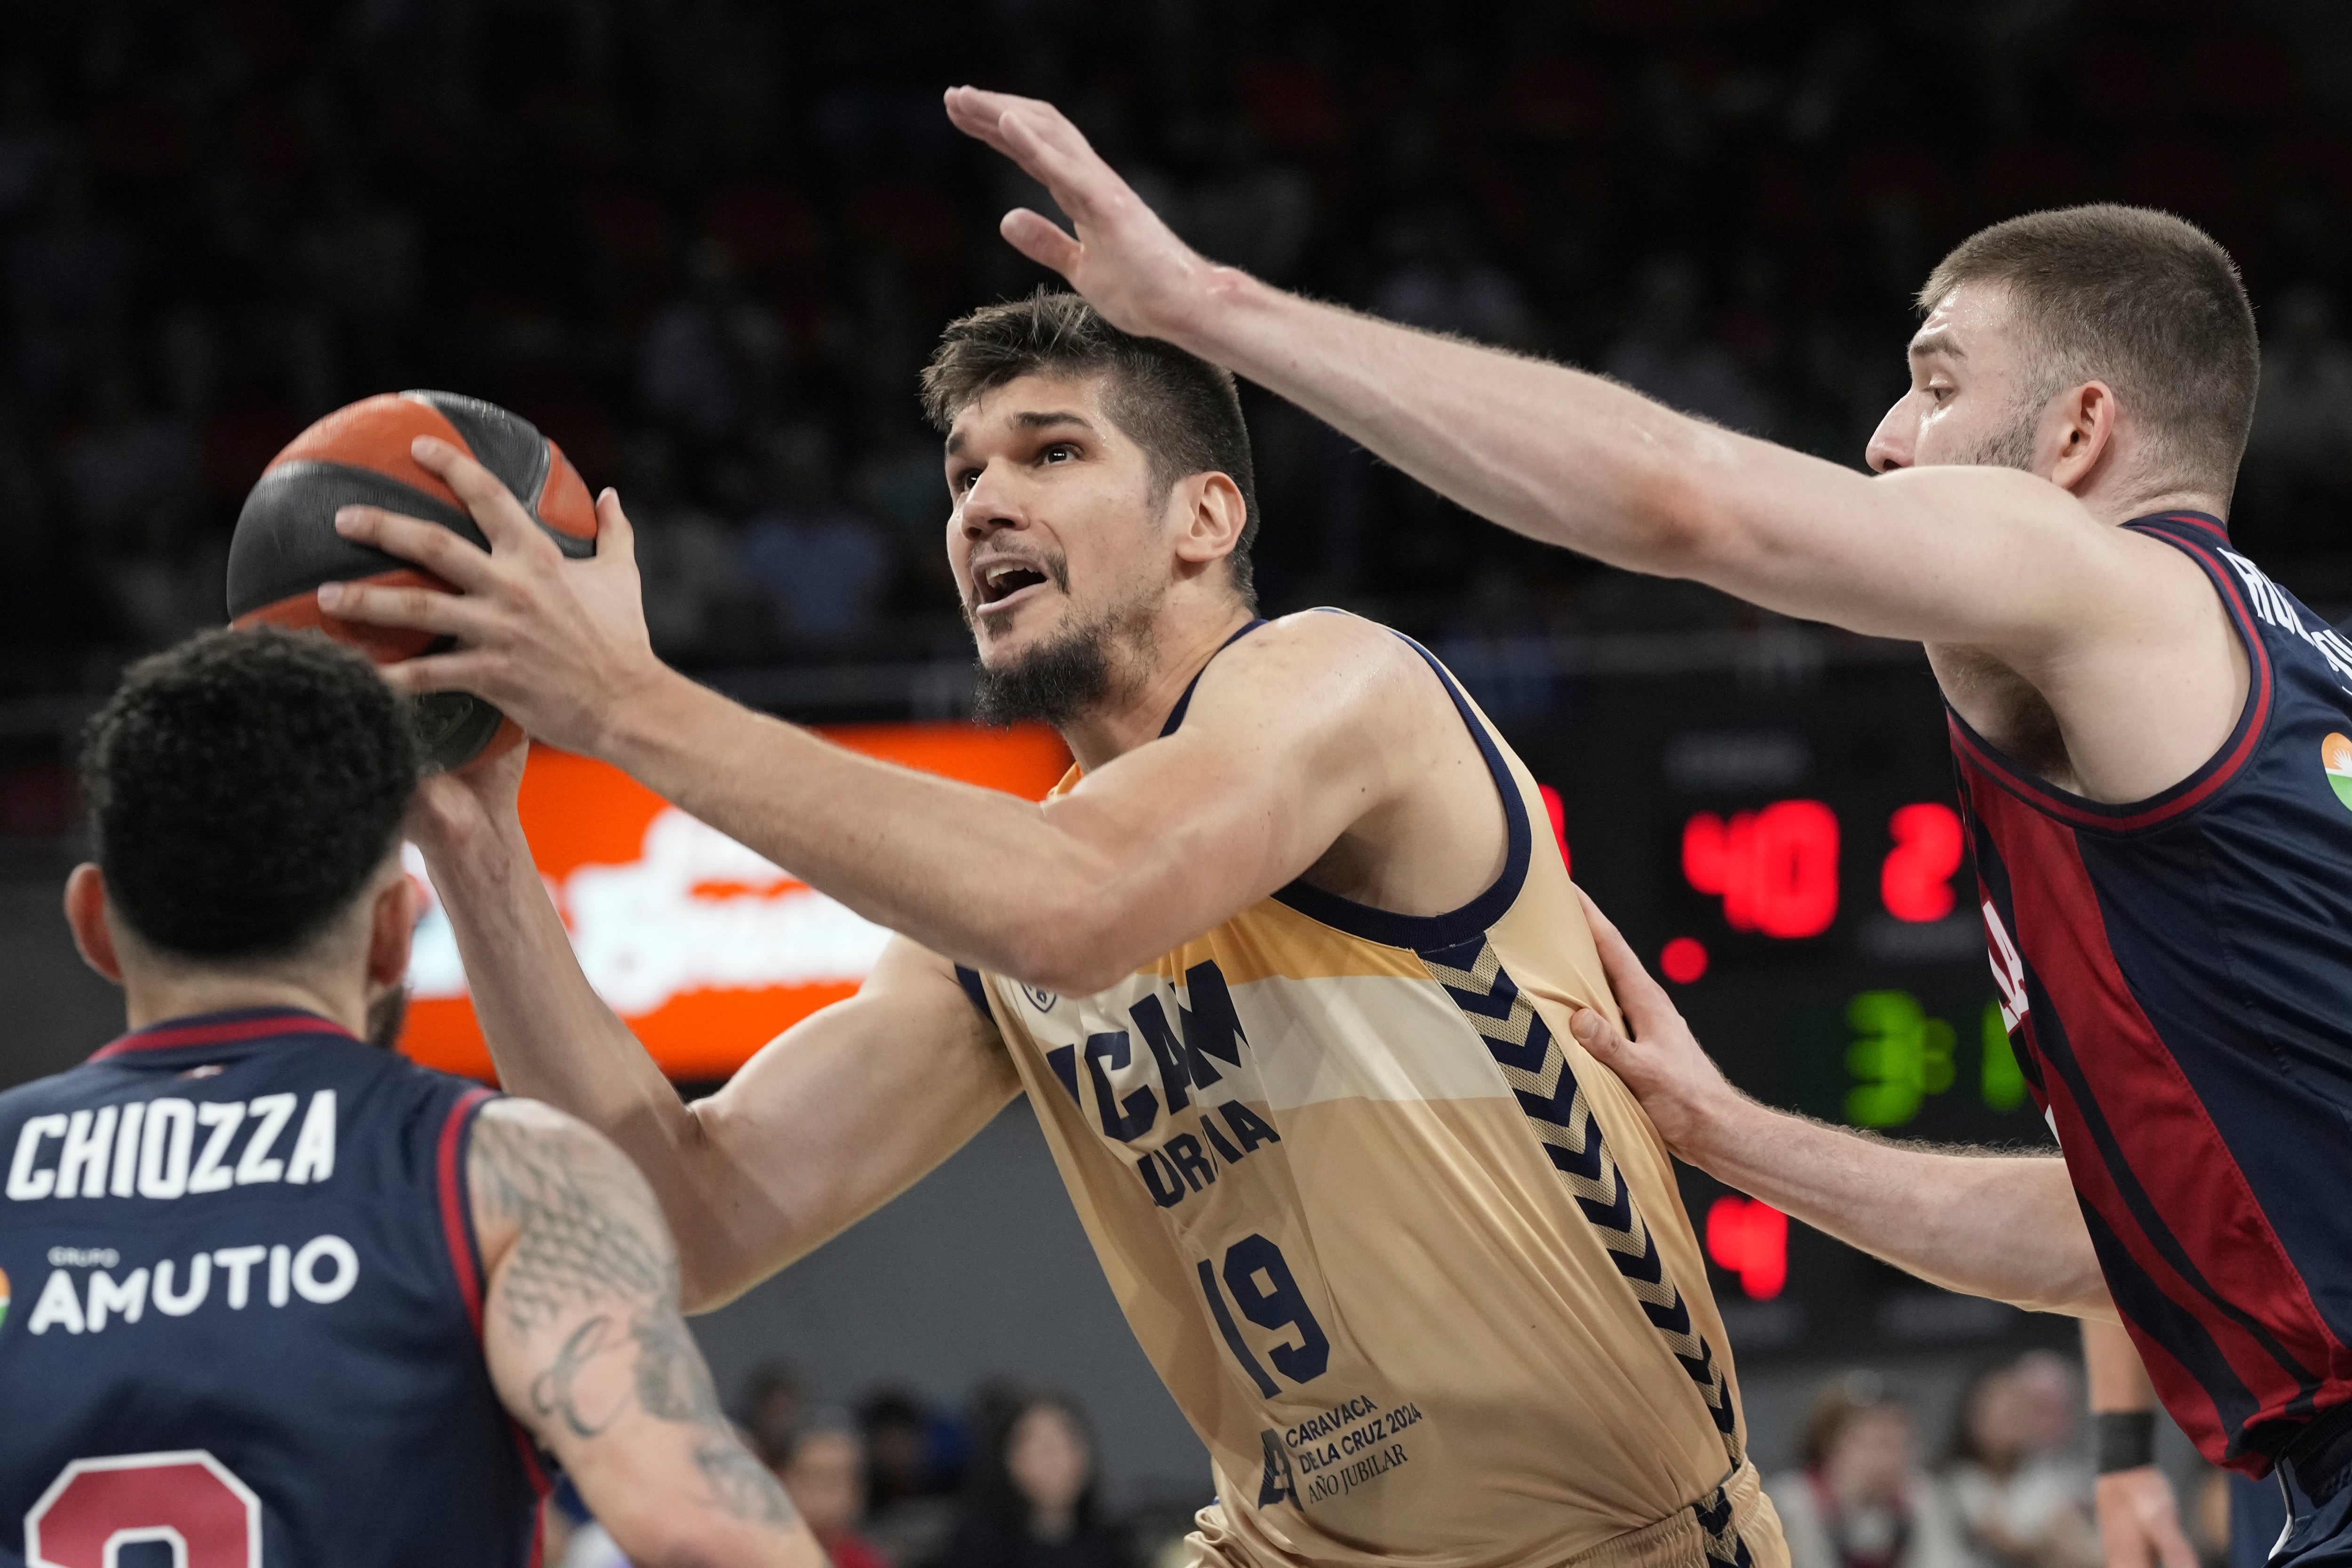
<svg viewBox="0 0 2352 1568"><path fill-rule="evenodd" d="M0 1566L539 1563L541 1450L635 1563L818 1568L602 1135L409 1065L400 698L212 632L89 726L73 936L129 1032L0 1095Z"/></svg>

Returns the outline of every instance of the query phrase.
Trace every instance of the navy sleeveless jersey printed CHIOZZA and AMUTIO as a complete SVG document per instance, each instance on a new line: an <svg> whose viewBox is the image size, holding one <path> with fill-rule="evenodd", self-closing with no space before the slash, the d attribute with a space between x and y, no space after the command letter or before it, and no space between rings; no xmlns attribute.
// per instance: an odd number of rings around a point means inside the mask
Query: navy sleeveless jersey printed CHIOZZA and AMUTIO
<svg viewBox="0 0 2352 1568"><path fill-rule="evenodd" d="M287 1009L0 1095L0 1568L536 1563L480 1342L487 1098Z"/></svg>

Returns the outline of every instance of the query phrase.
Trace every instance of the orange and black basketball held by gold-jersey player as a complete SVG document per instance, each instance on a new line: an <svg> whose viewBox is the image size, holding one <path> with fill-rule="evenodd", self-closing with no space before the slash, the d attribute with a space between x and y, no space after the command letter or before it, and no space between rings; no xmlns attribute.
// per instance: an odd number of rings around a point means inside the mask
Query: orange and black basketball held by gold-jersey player
<svg viewBox="0 0 2352 1568"><path fill-rule="evenodd" d="M320 583L447 588L409 562L336 534L336 508L381 505L437 522L487 548L466 505L409 456L409 442L419 435L437 435L470 451L515 491L564 555L595 555L595 501L588 484L529 421L456 393L383 393L318 421L261 470L228 545L230 623L318 628L376 663L447 646L447 637L341 621L318 607ZM416 729L437 769L496 757L522 738L503 712L463 691L419 698Z"/></svg>

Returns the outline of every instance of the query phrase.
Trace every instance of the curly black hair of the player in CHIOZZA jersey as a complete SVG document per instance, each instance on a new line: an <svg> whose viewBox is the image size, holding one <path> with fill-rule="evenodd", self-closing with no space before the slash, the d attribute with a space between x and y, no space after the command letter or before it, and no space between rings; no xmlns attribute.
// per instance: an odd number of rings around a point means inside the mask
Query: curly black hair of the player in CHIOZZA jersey
<svg viewBox="0 0 2352 1568"><path fill-rule="evenodd" d="M416 795L409 705L320 632L202 632L141 658L82 736L106 896L148 945L285 957L367 886Z"/></svg>

